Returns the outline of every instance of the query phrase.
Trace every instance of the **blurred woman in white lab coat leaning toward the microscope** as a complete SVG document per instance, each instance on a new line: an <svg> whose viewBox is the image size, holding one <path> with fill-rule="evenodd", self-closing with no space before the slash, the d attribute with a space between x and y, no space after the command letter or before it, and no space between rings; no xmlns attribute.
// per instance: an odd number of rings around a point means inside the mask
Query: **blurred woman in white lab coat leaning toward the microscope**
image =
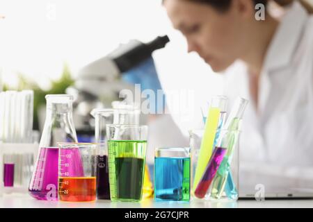
<svg viewBox="0 0 313 222"><path fill-rule="evenodd" d="M243 117L241 191L313 190L313 17L294 1L258 19L266 0L163 0L172 25L216 72L225 94L250 104ZM267 8L267 7L266 7Z"/></svg>

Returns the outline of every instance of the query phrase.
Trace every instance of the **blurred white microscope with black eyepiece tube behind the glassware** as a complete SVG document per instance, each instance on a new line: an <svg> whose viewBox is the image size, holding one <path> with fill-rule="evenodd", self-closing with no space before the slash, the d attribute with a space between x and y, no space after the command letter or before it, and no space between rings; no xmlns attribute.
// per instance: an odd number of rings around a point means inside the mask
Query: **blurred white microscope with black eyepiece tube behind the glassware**
<svg viewBox="0 0 313 222"><path fill-rule="evenodd" d="M135 84L161 89L152 53L168 42L167 35L147 43L131 40L79 70L74 87L66 90L74 96L73 116L79 142L94 141L91 110L111 108L111 103L119 100L120 90L134 90Z"/></svg>

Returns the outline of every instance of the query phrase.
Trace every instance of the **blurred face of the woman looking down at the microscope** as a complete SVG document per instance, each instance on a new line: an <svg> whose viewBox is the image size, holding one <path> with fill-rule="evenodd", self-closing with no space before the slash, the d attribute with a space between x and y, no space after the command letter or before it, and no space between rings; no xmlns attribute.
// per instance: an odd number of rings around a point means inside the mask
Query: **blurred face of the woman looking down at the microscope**
<svg viewBox="0 0 313 222"><path fill-rule="evenodd" d="M244 50L245 19L232 2L226 12L192 1L164 2L172 25L186 37L188 52L197 52L214 71L225 70Z"/></svg>

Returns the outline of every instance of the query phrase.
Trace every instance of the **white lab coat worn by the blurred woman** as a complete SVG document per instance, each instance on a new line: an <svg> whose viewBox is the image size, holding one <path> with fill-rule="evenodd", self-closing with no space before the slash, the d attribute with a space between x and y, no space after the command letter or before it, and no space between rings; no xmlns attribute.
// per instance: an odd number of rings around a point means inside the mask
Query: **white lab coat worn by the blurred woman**
<svg viewBox="0 0 313 222"><path fill-rule="evenodd" d="M313 189L313 17L297 2L282 17L259 80L258 111L245 65L236 62L225 78L231 102L250 100L241 134L241 190L257 184L268 192Z"/></svg>

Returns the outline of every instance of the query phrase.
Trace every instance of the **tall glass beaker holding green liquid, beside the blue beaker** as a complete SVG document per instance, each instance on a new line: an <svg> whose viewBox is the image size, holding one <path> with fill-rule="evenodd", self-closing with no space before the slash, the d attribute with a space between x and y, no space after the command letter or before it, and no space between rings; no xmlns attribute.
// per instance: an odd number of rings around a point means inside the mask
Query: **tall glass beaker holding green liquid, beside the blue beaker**
<svg viewBox="0 0 313 222"><path fill-rule="evenodd" d="M112 201L140 201L143 196L147 126L106 126Z"/></svg>

